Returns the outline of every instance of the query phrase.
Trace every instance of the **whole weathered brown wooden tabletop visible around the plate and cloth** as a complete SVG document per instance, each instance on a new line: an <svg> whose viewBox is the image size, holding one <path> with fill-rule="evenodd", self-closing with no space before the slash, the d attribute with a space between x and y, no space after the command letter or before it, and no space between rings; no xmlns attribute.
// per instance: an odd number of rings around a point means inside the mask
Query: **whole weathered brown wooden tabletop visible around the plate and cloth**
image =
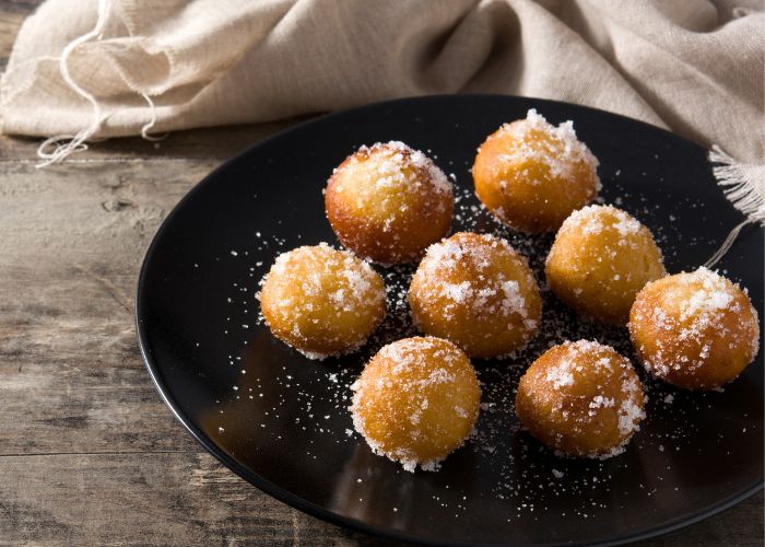
<svg viewBox="0 0 765 547"><path fill-rule="evenodd" d="M0 70L36 3L0 0ZM220 466L138 350L133 292L160 222L286 125L115 140L43 171L35 140L0 136L0 545L388 545ZM639 545L763 545L763 496Z"/></svg>

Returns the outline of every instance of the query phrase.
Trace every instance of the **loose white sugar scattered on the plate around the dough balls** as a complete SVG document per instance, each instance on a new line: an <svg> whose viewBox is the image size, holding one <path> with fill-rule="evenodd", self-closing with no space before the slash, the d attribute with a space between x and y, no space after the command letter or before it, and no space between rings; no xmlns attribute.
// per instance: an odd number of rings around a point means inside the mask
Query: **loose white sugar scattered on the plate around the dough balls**
<svg viewBox="0 0 765 547"><path fill-rule="evenodd" d="M268 230L260 226L262 235L258 232L256 236L254 229L249 245L222 242L216 256L200 255L188 265L190 276L208 275L224 263L231 268L228 299L220 302L226 310L225 318L219 321L212 315L207 325L210 333L229 340L228 351L219 354L217 350L211 350L202 335L190 339L196 342L192 348L200 360L215 362L215 366L228 374L228 382L214 394L209 422L216 442L225 445L236 439L237 446L254 454L261 445L270 445L289 454L307 473L327 469L331 450L331 457L338 457L337 463L331 462L332 469L342 468L340 475L348 477L348 481L334 485L332 494L345 500L349 511L357 511L357 514L368 511L372 504L375 511L385 510L377 490L393 482L397 491L402 492L401 498L393 501L396 507L388 508L393 517L411 515L407 508L416 508L468 523L470 515L496 500L507 509L507 522L511 525L537 525L538 519L543 521L550 513L568 524L588 526L610 517L614 509L650 508L656 498L682 496L686 482L682 480L685 474L680 466L686 457L705 457L709 451L726 457L726 452L735 443L760 442L761 420L751 415L735 417L742 424L735 434L732 431L710 433L706 418L719 416L716 409L731 393L680 392L645 375L640 368L638 373L644 388L650 393L646 407L648 418L646 427L634 437L623 455L603 461L558 457L520 430L514 409L518 379L528 363L551 345L565 339L598 338L625 356L632 356L632 347L623 329L603 327L577 316L550 293L543 281L543 259L552 236L521 235L495 221L473 196L468 171L472 158L464 165L457 165L450 164L444 154L438 159L431 151L426 152L447 173L456 173L452 179L459 183L459 189L456 191L455 230L491 232L508 240L514 248L529 257L544 300L540 333L526 349L508 361L475 361L483 391L481 416L467 445L440 464L444 472L449 468L448 473L427 476L431 486L423 494L423 489L415 484L420 480L417 474L404 473L368 453L365 441L352 429L346 410L352 393L350 385L361 372L362 363L385 344L416 334L405 301L414 266L390 270L376 268L387 284L389 314L358 353L315 363L295 360L292 350L268 335L262 318L255 321L259 306L254 299L254 286L278 251L317 243L329 235L286 235L291 232L281 229L282 220ZM684 196L660 203L650 201L650 193L644 195L639 189L634 190L638 186L632 182L656 185L662 183L660 177L645 178L639 171L625 165L604 167L601 172L607 186L604 195L651 225L670 266L678 268L676 265L682 264L679 248L688 247L699 256L708 254L710 244L705 237L680 231L683 221L691 218L716 222L704 201ZM622 185L621 181L629 181L629 186ZM273 207L276 206L274 202ZM667 222L670 214L673 221ZM283 222L286 225L289 217ZM231 255L231 248L235 248L238 256ZM242 329L242 323L248 323L250 329ZM246 370L246 374L240 370ZM234 385L238 391L232 388ZM210 383L208 387L217 389L219 386ZM585 406L589 407L592 401L587 400ZM331 417L327 420L325 416ZM624 449L616 452L624 452ZM631 477L642 474L646 462L650 462L650 469L637 485ZM485 480L486 487L476 491L455 478L464 476L479 477Z"/></svg>

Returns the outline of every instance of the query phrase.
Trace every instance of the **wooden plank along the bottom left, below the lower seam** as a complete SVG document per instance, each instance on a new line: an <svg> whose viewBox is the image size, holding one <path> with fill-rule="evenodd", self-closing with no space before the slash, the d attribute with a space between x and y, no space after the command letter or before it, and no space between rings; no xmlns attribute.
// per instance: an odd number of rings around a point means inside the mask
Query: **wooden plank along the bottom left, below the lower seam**
<svg viewBox="0 0 765 547"><path fill-rule="evenodd" d="M3 545L372 545L199 453L5 456ZM374 542L375 545L385 545Z"/></svg>

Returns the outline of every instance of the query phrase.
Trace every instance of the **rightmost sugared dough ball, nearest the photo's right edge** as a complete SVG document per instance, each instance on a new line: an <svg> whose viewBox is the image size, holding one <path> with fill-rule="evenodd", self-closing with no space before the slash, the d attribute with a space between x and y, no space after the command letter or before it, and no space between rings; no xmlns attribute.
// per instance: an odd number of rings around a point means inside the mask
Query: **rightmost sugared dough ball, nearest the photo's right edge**
<svg viewBox="0 0 765 547"><path fill-rule="evenodd" d="M648 283L628 326L646 370L685 389L731 382L760 349L760 321L749 296L706 268Z"/></svg>

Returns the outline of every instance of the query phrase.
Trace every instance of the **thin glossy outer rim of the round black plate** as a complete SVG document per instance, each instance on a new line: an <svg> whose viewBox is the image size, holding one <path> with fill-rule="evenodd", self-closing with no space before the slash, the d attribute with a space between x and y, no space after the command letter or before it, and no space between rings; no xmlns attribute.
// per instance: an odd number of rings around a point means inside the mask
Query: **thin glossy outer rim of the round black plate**
<svg viewBox="0 0 765 547"><path fill-rule="evenodd" d="M504 95L504 94L496 94L496 93L459 93L459 94L434 94L434 95L414 95L414 96L407 96L407 97L400 97L400 98L393 98L389 101L380 101L376 103L369 103L361 106L356 106L353 108L346 108L342 110L337 110L337 112L330 112L327 114L322 114L320 116L313 117L310 119L304 120L304 121L298 121L297 124L294 124L290 127L286 127L264 139L261 139L257 142L254 142L252 144L248 146L247 148L243 149L235 155L228 158L227 160L224 160L220 165L217 165L215 168L213 168L210 173L208 173L201 181L199 181L197 184L195 184L179 200L178 202L173 207L170 212L165 217L165 219L162 221L160 226L157 228L156 232L154 233L154 236L152 237L152 241L146 248L146 252L144 254L143 260L141 263L141 268L139 271L139 277L138 277L138 283L136 287L136 296L133 300L133 318L136 322L136 333L138 337L138 342L139 342L139 349L141 352L141 357L143 359L143 363L149 372L149 375L152 379L152 382L154 383L154 387L158 392L162 400L165 403L165 405L169 408L170 412L173 416L180 422L186 430L191 433L191 435L199 442L204 450L207 450L213 457L215 457L221 464L223 464L225 467L227 467L229 470L234 472L237 476L239 476L242 479L246 480L250 485L255 486L258 488L260 491L267 493L268 496L273 497L274 499L286 503L287 505L297 509L304 513L307 513L311 516L321 519L325 522L329 522L331 524L350 528L355 532L362 532L364 534L370 535L370 536L376 536L376 537L381 537L381 538L387 538L387 539L395 539L399 542L407 542L407 543L413 543L413 544L420 544L420 545L444 545L444 546L470 546L470 547L494 547L494 546L499 546L499 545L517 545L517 546L523 546L523 545L530 545L530 544L496 544L496 543L461 543L461 542L435 542L428 538L422 538L414 536L412 534L408 534L405 532L398 531L396 528L391 527L384 527L384 526L375 526L365 523L364 521L361 521L358 519L353 519L349 516L343 516L338 513L334 513L332 511L329 511L325 509L321 505L318 505L314 502L310 502L308 500L305 500L301 498L299 496L296 496L274 482L261 477L260 475L256 474L255 472L251 472L244 466L242 466L239 463L237 463L234 458L232 458L229 455L227 455L225 452L223 452L215 443L210 439L208 435L205 435L199 428L196 427L192 420L190 420L184 411L179 408L179 406L169 396L168 388L165 385L164 381L162 380L162 373L161 370L157 368L156 362L154 361L153 356L151 354L148 346L149 346L149 340L148 340L148 334L145 328L143 327L143 318L142 318L142 311L143 311L143 304L142 304L142 298L141 294L143 292L143 284L144 280L146 277L146 269L148 269L148 264L151 261L151 257L156 251L156 244L157 241L162 237L163 233L166 231L167 226L172 223L173 218L177 213L179 209L184 207L184 205L198 191L200 191L200 188L204 187L207 184L210 184L210 181L214 178L219 172L224 171L227 168L229 165L233 163L237 162L242 156L247 155L252 152L252 150L266 146L270 143L271 141L279 140L283 138L286 135L290 135L294 131L301 131L305 129L308 126L313 126L315 124L322 124L327 119L331 119L333 117L340 117L344 116L348 114L356 114L356 113L362 113L367 109L375 109L379 107L384 107L386 105L396 105L399 103L412 103L412 102L428 102L432 100L451 100L451 98L458 98L458 100L466 100L466 101L475 101L475 100L522 100L522 101L532 101L534 103L546 103L546 104L553 104L553 105L563 105L566 107L570 107L574 109L584 109L584 110L590 110L593 113L597 113L597 115L607 115L607 116L614 116L617 118L622 118L625 120L628 120L633 124L639 124L643 126L647 126L650 130L654 131L659 131L667 133L671 136L674 139L680 139L684 141L685 143L688 143L693 147L699 148L702 150L706 150L704 147L698 144L697 142L694 142L690 139L686 139L685 137L681 137L679 135L673 133L672 131L669 131L668 129L664 129L662 127L658 127L651 124L648 124L646 121L631 118L628 116L624 116L622 114L616 114L612 113L609 110L603 110L601 108L595 108L591 106L585 106L585 105L579 105L575 103L568 103L564 101L553 101L553 100L548 100L548 98L539 98L539 97L529 97L529 96L521 96L521 95ZM732 207L732 205L731 205ZM612 546L612 545L623 545L626 543L632 543L632 542L638 542L642 539L648 539L651 537L657 537L663 534L668 534L681 528L684 528L686 526L690 526L692 524L695 524L699 521L703 521L705 519L708 519L710 516L714 516L716 514L719 514L738 503L744 501L745 499L750 498L751 496L755 494L760 490L763 490L765 488L765 477L761 478L760 480L755 481L753 485L751 485L748 488L744 488L742 490L739 490L738 492L734 492L733 494L722 499L721 501L718 501L716 503L713 503L699 511L694 512L690 516L679 516L676 519L673 519L669 522L664 522L662 524L656 525L650 528L644 528L642 531L635 532L635 533L627 533L623 534L620 536L612 536L609 538L603 538L603 539L598 539L595 543L587 542L578 542L578 543L569 543L569 542L558 542L558 543L546 543L546 544L531 544L534 547L558 547L558 546L580 546L580 545L595 545L595 546Z"/></svg>

